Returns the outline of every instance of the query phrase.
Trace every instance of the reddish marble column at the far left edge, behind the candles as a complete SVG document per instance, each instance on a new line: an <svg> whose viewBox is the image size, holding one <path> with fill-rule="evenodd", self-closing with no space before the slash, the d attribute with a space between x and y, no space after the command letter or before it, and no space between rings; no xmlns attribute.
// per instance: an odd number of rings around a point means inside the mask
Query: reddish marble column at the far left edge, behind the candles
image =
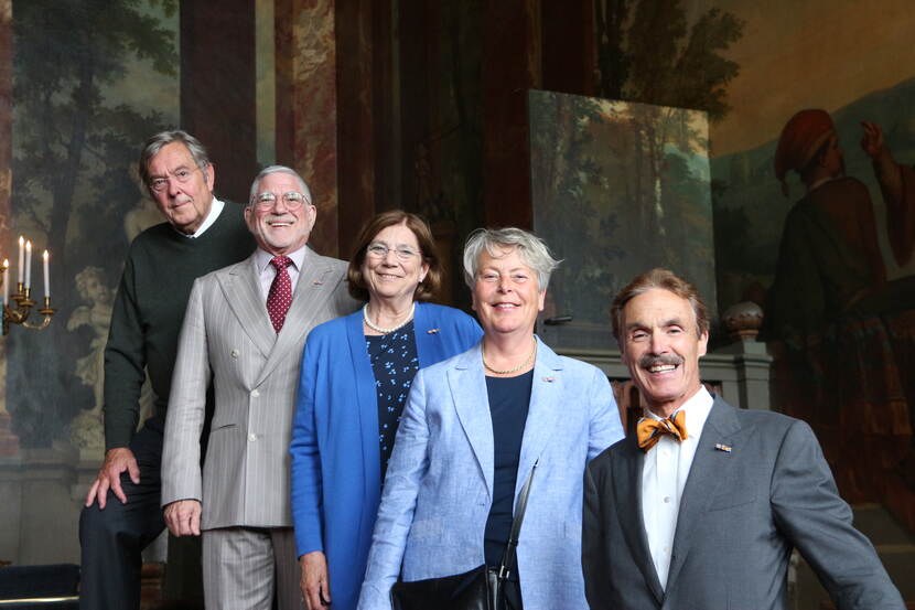
<svg viewBox="0 0 915 610"><path fill-rule="evenodd" d="M0 260L10 253L12 210L12 0L0 0ZM8 287L9 288L9 287ZM0 339L0 458L19 453L7 410L7 342Z"/></svg>

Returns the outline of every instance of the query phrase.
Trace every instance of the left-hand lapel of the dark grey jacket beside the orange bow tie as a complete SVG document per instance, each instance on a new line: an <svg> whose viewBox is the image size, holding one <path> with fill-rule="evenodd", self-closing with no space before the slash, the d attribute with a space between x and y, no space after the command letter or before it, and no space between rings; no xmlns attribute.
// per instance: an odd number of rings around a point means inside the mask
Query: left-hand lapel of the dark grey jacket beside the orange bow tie
<svg viewBox="0 0 915 610"><path fill-rule="evenodd" d="M624 459L621 475L613 478L616 514L635 565L642 571L652 595L658 603L661 603L664 588L660 586L655 563L648 550L648 536L645 533L645 521L642 515L642 470L645 453L636 445L635 435L626 438L622 457Z"/></svg>

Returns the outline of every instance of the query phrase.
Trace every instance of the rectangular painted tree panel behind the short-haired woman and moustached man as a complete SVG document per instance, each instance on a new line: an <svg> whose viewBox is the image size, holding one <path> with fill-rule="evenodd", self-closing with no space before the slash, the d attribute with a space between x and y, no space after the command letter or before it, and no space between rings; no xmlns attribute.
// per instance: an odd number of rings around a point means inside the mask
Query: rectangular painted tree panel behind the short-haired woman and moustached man
<svg viewBox="0 0 915 610"><path fill-rule="evenodd" d="M566 260L547 312L572 317L558 344L612 343L610 301L652 267L714 302L706 114L549 92L529 108L534 228Z"/></svg>

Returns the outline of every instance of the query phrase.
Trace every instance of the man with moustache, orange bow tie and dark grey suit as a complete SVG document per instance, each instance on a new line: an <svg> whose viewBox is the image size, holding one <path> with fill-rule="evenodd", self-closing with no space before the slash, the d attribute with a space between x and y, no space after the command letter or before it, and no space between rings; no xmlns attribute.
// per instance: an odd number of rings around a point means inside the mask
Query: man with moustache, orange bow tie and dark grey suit
<svg viewBox="0 0 915 610"><path fill-rule="evenodd" d="M702 386L709 320L696 289L653 269L611 315L646 408L636 437L585 472L591 608L784 610L797 547L837 608L903 610L809 426L735 409Z"/></svg>

